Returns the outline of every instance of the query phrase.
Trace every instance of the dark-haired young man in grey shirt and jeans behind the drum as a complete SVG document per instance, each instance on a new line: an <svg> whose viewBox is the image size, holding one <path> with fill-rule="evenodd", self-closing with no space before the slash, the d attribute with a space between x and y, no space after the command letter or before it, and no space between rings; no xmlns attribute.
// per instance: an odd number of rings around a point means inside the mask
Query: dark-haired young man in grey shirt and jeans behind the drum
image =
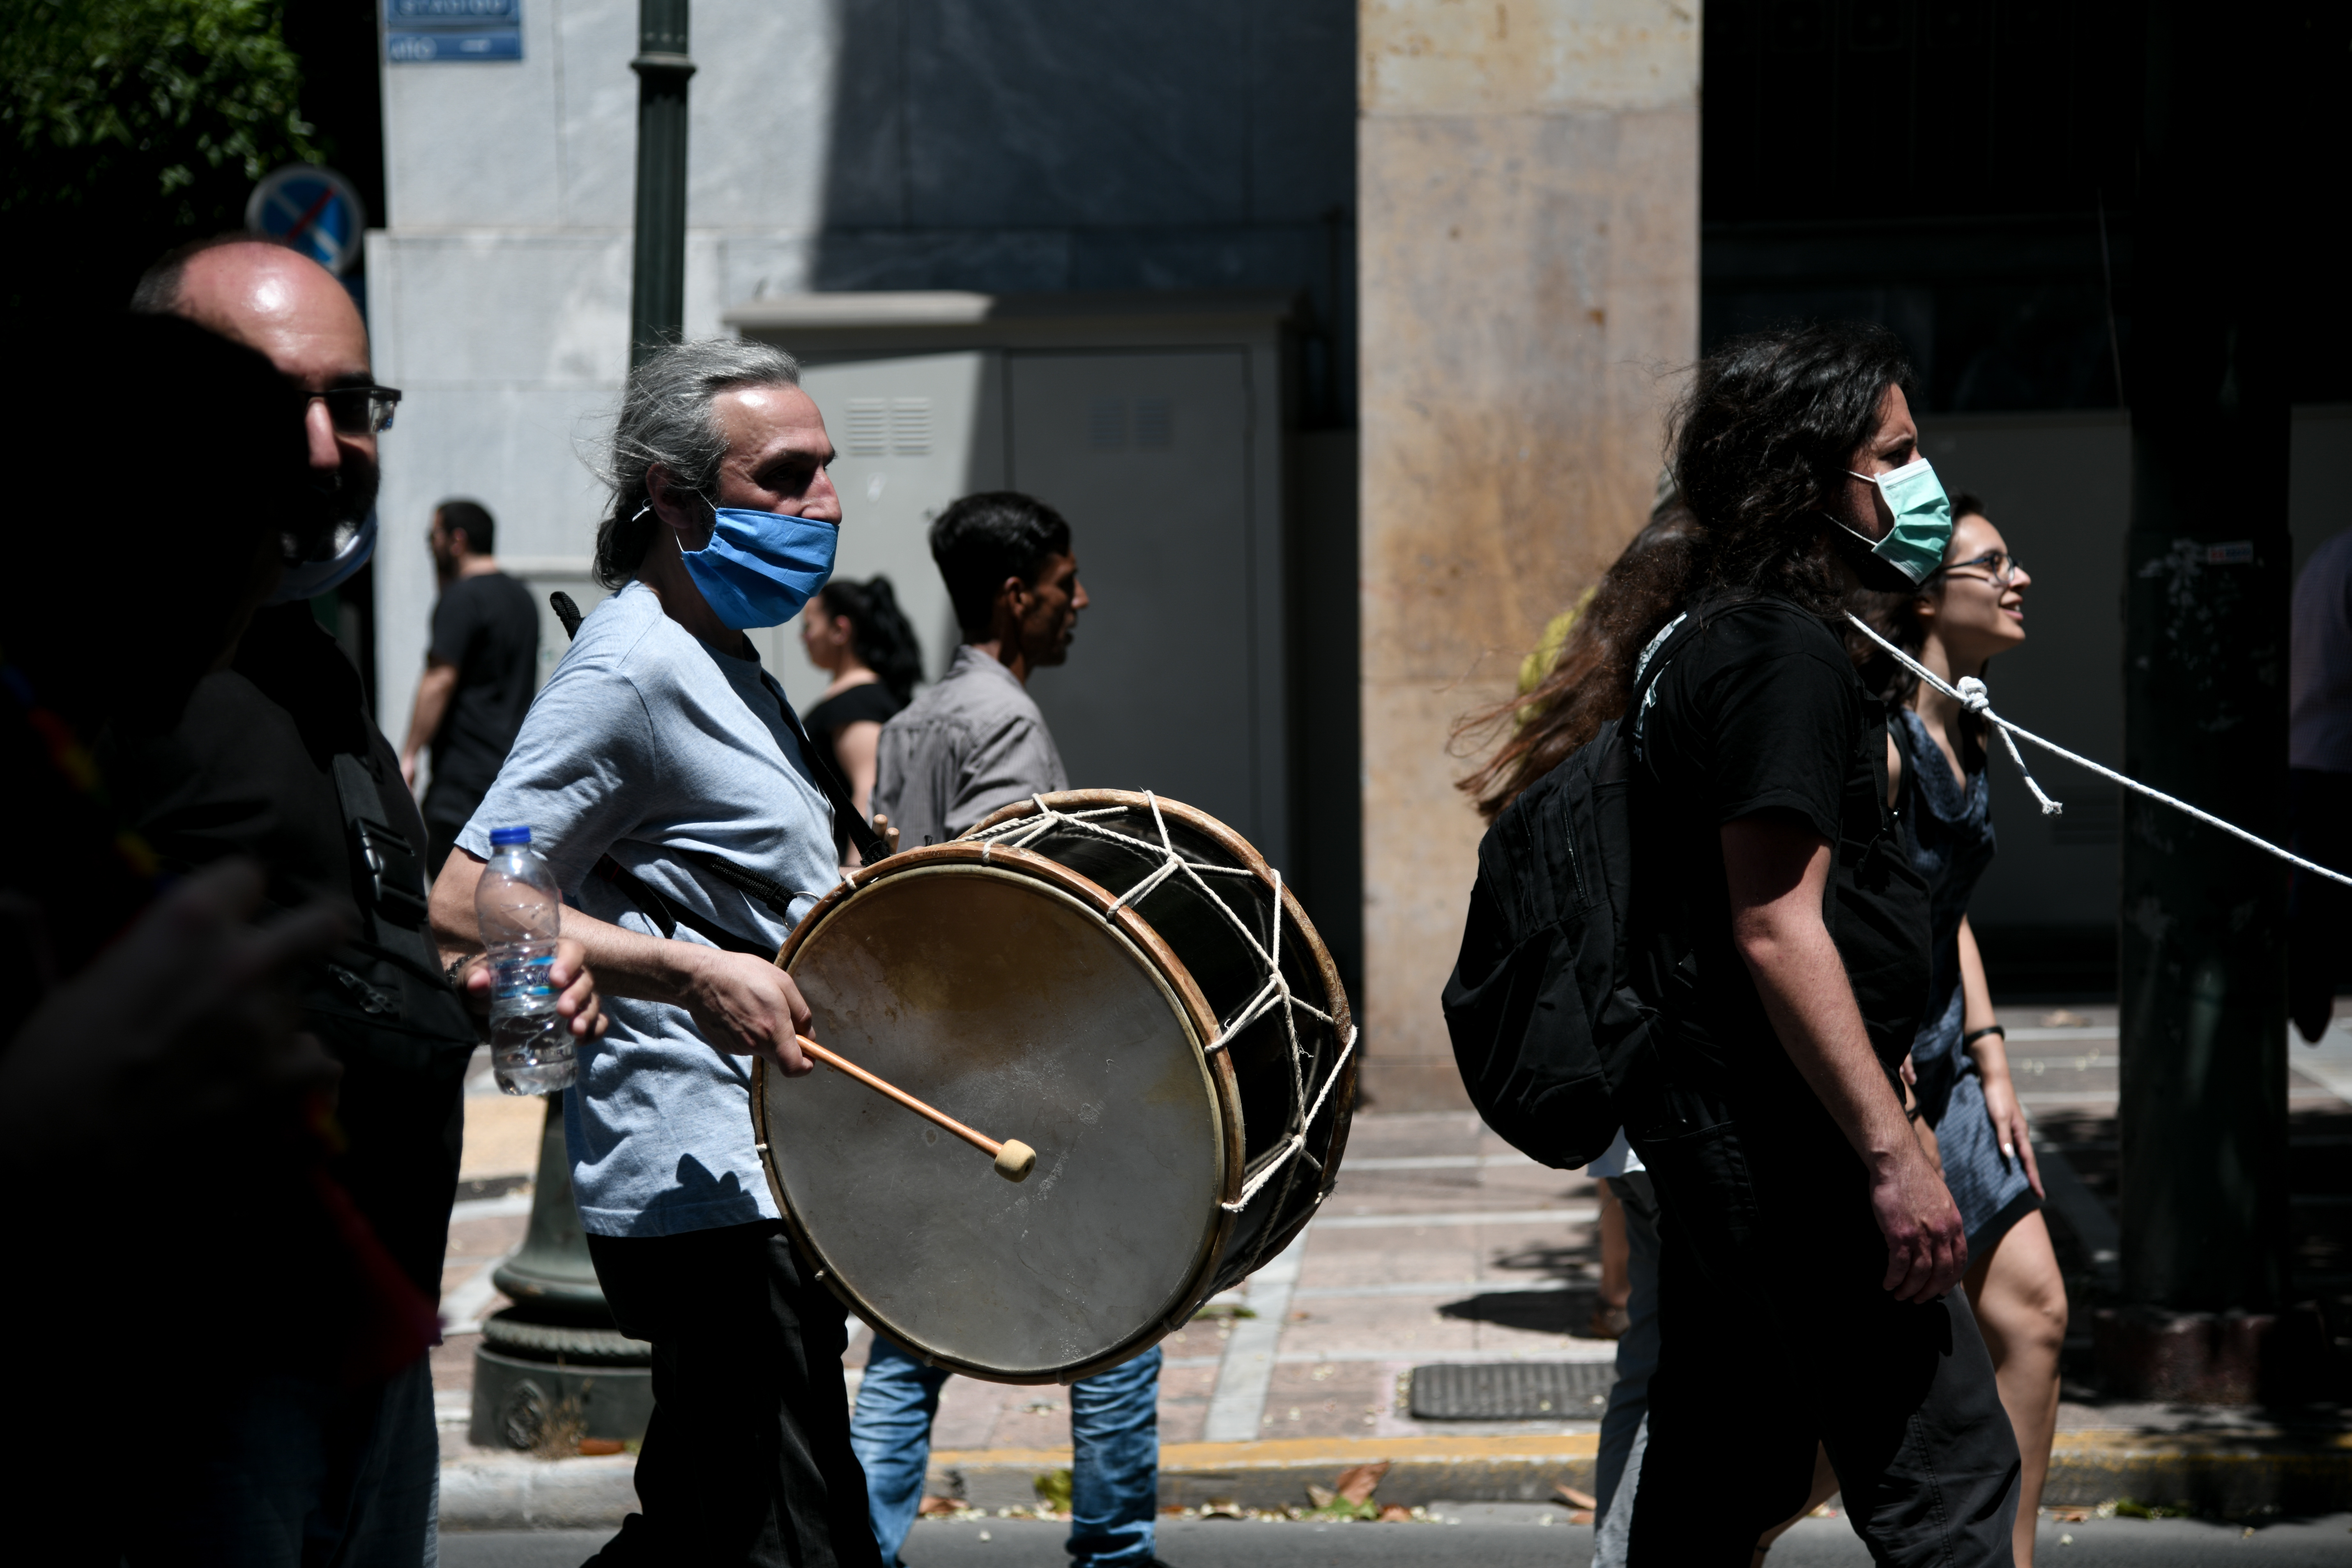
<svg viewBox="0 0 2352 1568"><path fill-rule="evenodd" d="M997 806L1068 788L1028 677L1070 656L1077 611L1087 609L1070 524L1014 491L964 496L931 524L931 559L948 581L964 644L946 679L882 726L875 811L906 835L901 849L953 839ZM922 1502L946 1382L946 1371L875 1335L851 1443L866 1462L873 1530L889 1563ZM1157 1561L1157 1347L1070 1385L1070 1446L1068 1549L1077 1568Z"/></svg>

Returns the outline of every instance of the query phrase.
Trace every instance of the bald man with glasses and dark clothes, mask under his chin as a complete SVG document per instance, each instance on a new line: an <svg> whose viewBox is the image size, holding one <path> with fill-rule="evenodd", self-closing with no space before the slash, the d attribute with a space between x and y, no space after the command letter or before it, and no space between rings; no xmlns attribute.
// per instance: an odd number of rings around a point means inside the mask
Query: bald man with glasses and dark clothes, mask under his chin
<svg viewBox="0 0 2352 1568"><path fill-rule="evenodd" d="M442 971L423 924L423 820L369 717L360 672L310 614L310 599L334 592L374 550L376 442L400 393L376 386L367 327L343 284L259 235L172 252L141 277L132 308L245 343L308 395L313 512L285 536L285 581L230 665L198 684L169 736L118 738L108 778L169 870L249 856L268 872L270 903L320 900L343 912L350 938L289 985L303 1027L343 1067L334 1103L343 1147L332 1175L433 1302L487 971L475 966L468 992ZM560 943L555 964L572 1030L595 1037L600 1011L579 943ZM428 1561L440 1436L426 1356L388 1373L320 1366L294 1349L306 1328L261 1328L235 1347L270 1375L249 1380L233 1408L191 1413L207 1434L202 1453L143 1479L167 1535L146 1542L148 1556Z"/></svg>

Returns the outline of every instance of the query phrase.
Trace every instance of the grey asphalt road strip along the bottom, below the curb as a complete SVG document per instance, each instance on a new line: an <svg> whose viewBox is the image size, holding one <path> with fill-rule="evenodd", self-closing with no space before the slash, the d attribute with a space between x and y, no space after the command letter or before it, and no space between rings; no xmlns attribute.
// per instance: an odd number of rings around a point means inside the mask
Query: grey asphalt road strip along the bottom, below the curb
<svg viewBox="0 0 2352 1568"><path fill-rule="evenodd" d="M1538 1526L1541 1505L1461 1505L1461 1523L1312 1526L1164 1519L1160 1556L1174 1568L1583 1568L1590 1526ZM927 1519L906 1542L908 1568L1065 1568L1068 1526L1030 1519L941 1523ZM442 1568L572 1568L609 1530L489 1530L442 1535ZM2072 1537L2065 1542L2063 1537ZM2201 1519L2093 1519L2044 1523L2037 1561L2046 1568L2343 1568L2352 1561L2352 1514L2244 1526ZM1870 1554L1844 1519L1806 1519L1771 1552L1773 1568L1865 1568Z"/></svg>

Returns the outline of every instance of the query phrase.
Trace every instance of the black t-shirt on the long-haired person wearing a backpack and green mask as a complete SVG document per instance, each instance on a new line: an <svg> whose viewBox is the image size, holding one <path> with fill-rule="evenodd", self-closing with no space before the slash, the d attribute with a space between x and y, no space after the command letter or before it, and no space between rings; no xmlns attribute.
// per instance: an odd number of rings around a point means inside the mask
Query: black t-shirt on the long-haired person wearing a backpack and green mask
<svg viewBox="0 0 2352 1568"><path fill-rule="evenodd" d="M1929 898L1884 806L1886 715L1837 635L1795 604L1696 614L1639 729L1635 990L1665 1016L1677 1079L1811 1098L1731 943L1722 851L1724 823L1792 813L1837 849L1823 914L1893 1077L1926 1006Z"/></svg>

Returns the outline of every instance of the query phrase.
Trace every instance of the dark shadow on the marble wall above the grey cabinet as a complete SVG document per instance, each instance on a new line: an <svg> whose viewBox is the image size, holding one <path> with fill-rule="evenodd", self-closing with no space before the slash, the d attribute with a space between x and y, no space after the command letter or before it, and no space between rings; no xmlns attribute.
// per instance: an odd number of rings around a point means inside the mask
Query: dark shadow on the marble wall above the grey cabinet
<svg viewBox="0 0 2352 1568"><path fill-rule="evenodd" d="M818 292L1279 289L1355 421L1355 5L844 0Z"/></svg>

